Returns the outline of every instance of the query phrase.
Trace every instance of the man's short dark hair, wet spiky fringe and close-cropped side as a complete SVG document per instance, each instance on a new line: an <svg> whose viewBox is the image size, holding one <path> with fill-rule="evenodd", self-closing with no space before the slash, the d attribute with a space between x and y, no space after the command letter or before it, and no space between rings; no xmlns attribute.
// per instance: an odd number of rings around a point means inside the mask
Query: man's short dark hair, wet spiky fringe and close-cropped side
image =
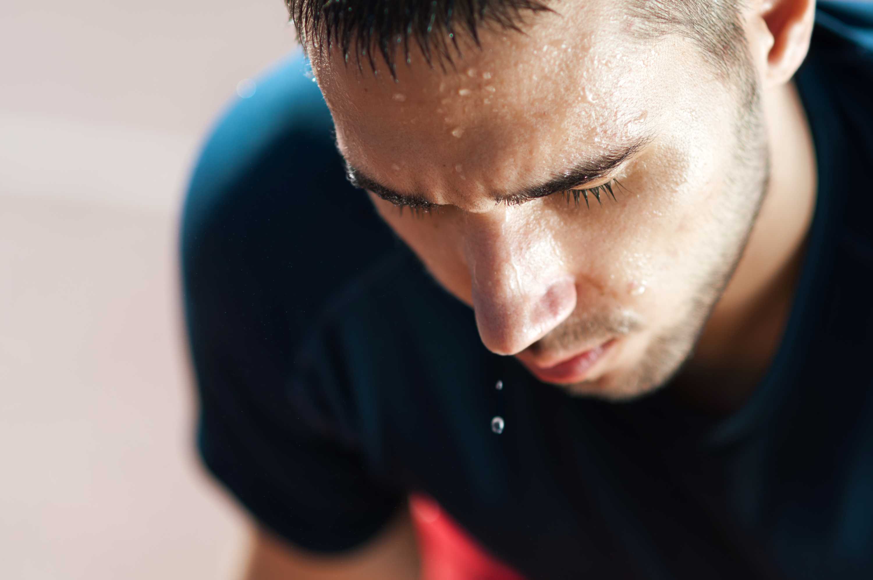
<svg viewBox="0 0 873 580"><path fill-rule="evenodd" d="M739 21L743 0L624 0L631 17L640 23L633 34L654 42L668 35L691 39L707 60L728 76L742 66L747 51ZM525 17L551 11L559 0L285 0L299 39L307 38L319 52L327 46L340 47L348 62L354 55L377 72L373 53L382 53L396 79L398 49L407 63L409 42L415 42L430 66L454 66L451 50L461 56L457 35L465 34L479 45L479 27L498 26L522 32Z"/></svg>

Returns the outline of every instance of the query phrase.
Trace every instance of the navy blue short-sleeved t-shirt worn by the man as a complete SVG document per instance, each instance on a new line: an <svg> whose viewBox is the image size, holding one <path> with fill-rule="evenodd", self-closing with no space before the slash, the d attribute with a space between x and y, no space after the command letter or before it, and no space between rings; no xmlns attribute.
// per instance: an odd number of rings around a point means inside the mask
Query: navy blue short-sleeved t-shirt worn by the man
<svg viewBox="0 0 873 580"><path fill-rule="evenodd" d="M873 5L820 2L816 22L795 78L820 181L801 280L766 377L715 423L669 386L574 398L485 349L347 183L303 59L259 79L182 218L205 465L317 552L421 492L530 578L873 577Z"/></svg>

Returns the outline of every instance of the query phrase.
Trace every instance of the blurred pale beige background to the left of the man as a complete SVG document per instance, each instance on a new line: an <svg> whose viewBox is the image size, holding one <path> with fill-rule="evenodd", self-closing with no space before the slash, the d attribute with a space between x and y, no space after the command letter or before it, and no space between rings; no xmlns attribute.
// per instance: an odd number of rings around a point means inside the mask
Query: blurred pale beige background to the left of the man
<svg viewBox="0 0 873 580"><path fill-rule="evenodd" d="M0 4L0 578L230 578L175 237L204 132L294 50L285 7Z"/></svg>

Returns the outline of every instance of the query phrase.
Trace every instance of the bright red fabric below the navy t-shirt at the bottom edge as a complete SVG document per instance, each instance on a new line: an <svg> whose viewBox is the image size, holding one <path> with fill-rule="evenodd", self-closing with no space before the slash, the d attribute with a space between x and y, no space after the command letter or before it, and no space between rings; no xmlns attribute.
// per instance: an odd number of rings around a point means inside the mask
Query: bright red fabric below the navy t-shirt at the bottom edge
<svg viewBox="0 0 873 580"><path fill-rule="evenodd" d="M422 580L525 580L487 554L430 497L410 495L409 508L422 553Z"/></svg>

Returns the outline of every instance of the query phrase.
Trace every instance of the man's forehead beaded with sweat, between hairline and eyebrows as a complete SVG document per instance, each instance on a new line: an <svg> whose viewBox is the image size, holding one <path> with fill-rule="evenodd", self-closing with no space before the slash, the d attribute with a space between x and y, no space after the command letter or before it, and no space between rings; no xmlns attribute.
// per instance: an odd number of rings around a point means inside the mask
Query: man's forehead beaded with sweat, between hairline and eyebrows
<svg viewBox="0 0 873 580"><path fill-rule="evenodd" d="M402 189L464 167L487 168L494 183L476 183L503 189L627 142L647 104L641 69L654 53L631 42L621 4L555 4L558 14L526 17L524 33L480 31L481 49L459 38L463 58L446 63L446 72L410 45L397 82L379 60L374 75L337 51L313 57L340 150ZM402 176L386 175L401 168Z"/></svg>

